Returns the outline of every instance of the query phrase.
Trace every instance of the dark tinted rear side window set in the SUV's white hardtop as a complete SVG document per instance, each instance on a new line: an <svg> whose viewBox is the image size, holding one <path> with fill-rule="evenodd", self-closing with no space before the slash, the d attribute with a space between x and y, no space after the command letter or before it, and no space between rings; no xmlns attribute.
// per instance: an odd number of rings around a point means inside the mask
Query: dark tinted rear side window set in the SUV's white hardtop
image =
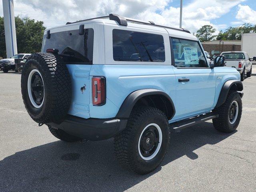
<svg viewBox="0 0 256 192"><path fill-rule="evenodd" d="M114 29L113 58L115 61L164 62L164 38L158 34Z"/></svg>

